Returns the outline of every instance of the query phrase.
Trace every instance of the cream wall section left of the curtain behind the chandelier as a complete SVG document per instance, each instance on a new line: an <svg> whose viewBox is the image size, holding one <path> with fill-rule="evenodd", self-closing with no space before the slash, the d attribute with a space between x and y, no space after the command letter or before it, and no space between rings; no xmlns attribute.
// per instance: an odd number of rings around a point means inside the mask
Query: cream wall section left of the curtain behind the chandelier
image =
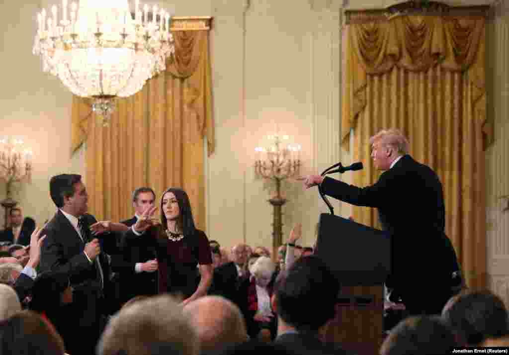
<svg viewBox="0 0 509 355"><path fill-rule="evenodd" d="M82 173L82 153L70 158L71 94L58 79L43 73L32 54L37 2L3 2L0 6L0 135L22 138L33 151L32 184L22 184L13 198L24 213L43 223L55 207L49 198L52 175ZM5 197L1 184L0 198ZM0 225L4 225L2 209Z"/></svg>

